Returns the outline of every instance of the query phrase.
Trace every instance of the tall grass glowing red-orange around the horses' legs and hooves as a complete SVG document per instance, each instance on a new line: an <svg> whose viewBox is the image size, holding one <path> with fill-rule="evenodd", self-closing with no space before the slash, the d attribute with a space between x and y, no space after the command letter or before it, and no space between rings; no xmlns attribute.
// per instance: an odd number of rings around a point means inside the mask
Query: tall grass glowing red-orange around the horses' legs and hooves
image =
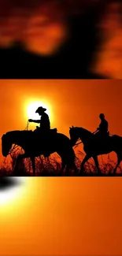
<svg viewBox="0 0 122 256"><path fill-rule="evenodd" d="M84 154L79 151L78 159L76 159L76 167L79 170L83 161ZM14 173L13 169L16 165L17 153L13 154L11 161L7 161L7 158L2 162L0 167L0 176L33 176L31 160L24 159L20 161L17 172ZM113 169L115 168L115 161L108 159L107 162L99 162L100 169L103 176L113 175ZM94 161L89 160L85 164L85 170L80 176L97 176L97 169L94 165ZM75 171L69 170L69 173L61 173L61 160L57 157L57 154L50 156L50 158L35 158L35 176L78 176ZM122 176L122 168L119 166L116 175Z"/></svg>

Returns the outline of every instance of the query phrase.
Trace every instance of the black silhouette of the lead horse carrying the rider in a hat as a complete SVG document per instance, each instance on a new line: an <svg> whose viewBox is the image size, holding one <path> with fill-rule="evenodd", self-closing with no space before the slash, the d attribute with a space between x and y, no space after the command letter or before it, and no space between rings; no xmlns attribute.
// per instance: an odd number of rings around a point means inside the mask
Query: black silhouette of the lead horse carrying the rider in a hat
<svg viewBox="0 0 122 256"><path fill-rule="evenodd" d="M71 140L64 134L50 130L47 135L40 135L32 131L11 131L2 135L2 155L6 157L12 145L16 144L24 150L24 154L17 157L14 171L17 171L20 160L31 158L33 173L35 174L35 158L40 155L45 157L57 152L61 157L61 171L69 173L70 169L76 170L76 155L72 149Z"/></svg>

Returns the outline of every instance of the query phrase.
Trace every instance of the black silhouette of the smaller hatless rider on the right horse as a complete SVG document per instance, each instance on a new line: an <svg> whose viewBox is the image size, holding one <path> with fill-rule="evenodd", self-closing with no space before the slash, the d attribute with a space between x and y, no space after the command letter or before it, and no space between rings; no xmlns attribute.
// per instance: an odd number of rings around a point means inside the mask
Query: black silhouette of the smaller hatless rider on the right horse
<svg viewBox="0 0 122 256"><path fill-rule="evenodd" d="M95 135L98 135L101 138L105 138L105 136L109 134L108 133L109 124L108 124L108 121L105 120L104 113L100 113L99 118L101 119L101 123L99 124L99 127L97 128L98 132L96 132Z"/></svg>

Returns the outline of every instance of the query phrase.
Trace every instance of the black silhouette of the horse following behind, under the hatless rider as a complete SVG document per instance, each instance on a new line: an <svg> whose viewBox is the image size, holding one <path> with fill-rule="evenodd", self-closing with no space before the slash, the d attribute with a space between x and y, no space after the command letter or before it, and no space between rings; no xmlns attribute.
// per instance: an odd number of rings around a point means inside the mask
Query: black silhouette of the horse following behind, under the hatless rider
<svg viewBox="0 0 122 256"><path fill-rule="evenodd" d="M83 143L83 150L86 153L81 164L80 172L83 172L85 162L90 158L93 158L98 169L98 173L100 174L101 170L98 165L98 155L109 154L113 151L117 155L116 168L113 170L113 173L116 173L116 169L118 165L120 165L120 161L122 161L122 137L119 135L108 135L105 139L95 139L94 134L87 131L87 129L73 126L72 128L69 128L69 134L72 141L72 147L75 146L78 139L81 139Z"/></svg>

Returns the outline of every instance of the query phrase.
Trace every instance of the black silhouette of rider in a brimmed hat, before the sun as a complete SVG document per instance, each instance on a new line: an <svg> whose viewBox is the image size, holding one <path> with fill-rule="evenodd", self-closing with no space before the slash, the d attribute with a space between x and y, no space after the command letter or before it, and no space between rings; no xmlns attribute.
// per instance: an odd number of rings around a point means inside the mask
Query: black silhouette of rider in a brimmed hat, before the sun
<svg viewBox="0 0 122 256"><path fill-rule="evenodd" d="M32 120L29 119L29 122L34 122L40 124L39 130L41 132L48 132L50 130L50 119L47 113L45 113L46 109L43 108L43 106L39 106L38 109L36 109L35 113L39 113L39 116L41 116L40 120Z"/></svg>

